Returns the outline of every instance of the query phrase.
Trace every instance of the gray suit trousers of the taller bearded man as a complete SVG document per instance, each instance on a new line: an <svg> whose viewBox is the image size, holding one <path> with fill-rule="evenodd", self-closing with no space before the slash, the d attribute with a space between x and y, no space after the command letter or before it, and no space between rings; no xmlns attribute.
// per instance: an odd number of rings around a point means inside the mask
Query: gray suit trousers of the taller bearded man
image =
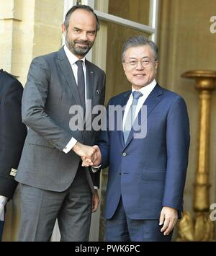
<svg viewBox="0 0 216 256"><path fill-rule="evenodd" d="M84 172L79 168L64 192L21 185L19 241L50 241L56 219L61 241L89 240L92 193Z"/></svg>

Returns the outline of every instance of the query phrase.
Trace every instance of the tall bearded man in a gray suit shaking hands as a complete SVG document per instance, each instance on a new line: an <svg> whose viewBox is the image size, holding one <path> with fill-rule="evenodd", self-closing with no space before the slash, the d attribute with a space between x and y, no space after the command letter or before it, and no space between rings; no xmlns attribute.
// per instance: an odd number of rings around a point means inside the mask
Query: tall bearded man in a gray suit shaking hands
<svg viewBox="0 0 216 256"><path fill-rule="evenodd" d="M63 24L66 45L31 63L22 99L29 131L16 176L21 183L19 241L49 241L56 219L61 241L89 239L99 176L81 167L80 156L94 159L96 151L97 133L87 131L84 122L84 115L90 120L95 115L86 102L104 105L104 71L85 58L98 30L91 7L73 6ZM81 106L76 113L81 129L72 122L76 105Z"/></svg>

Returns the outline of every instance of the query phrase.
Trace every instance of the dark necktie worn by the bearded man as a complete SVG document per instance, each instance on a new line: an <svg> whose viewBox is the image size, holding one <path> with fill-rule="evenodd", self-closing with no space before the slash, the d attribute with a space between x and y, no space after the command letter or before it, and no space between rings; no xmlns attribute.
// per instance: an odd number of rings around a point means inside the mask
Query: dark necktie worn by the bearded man
<svg viewBox="0 0 216 256"><path fill-rule="evenodd" d="M76 61L76 65L78 66L78 71L77 71L78 94L81 101L81 107L83 107L84 115L85 115L86 95L85 95L85 76L84 76L84 70L83 70L83 61Z"/></svg>

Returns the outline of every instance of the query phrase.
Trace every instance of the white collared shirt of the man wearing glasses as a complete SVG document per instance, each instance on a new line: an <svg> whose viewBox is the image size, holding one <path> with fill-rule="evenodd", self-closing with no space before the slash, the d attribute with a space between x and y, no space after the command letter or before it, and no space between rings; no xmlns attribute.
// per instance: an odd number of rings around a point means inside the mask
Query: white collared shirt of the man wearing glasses
<svg viewBox="0 0 216 256"><path fill-rule="evenodd" d="M139 89L139 92L141 92L143 94L143 96L141 96L138 100L138 105L137 105L136 111L135 111L135 117L137 117L138 112L140 112L141 107L143 106L145 100L148 98L149 94L156 87L156 84L157 84L156 80L153 80L150 84L148 84L145 87L142 87L141 89ZM135 92L135 89L133 89L133 87L132 87L132 92ZM126 121L126 118L127 118L127 113L130 109L130 106L132 105L132 92L130 94L129 100L127 101L127 104L126 104L126 107L125 107L125 113L124 113L123 123L122 123L123 131L125 131L125 121Z"/></svg>

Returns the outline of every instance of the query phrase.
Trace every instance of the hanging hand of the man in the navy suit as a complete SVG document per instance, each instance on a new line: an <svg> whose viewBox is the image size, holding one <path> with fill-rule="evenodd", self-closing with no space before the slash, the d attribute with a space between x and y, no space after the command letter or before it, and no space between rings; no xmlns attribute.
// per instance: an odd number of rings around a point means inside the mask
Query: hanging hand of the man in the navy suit
<svg viewBox="0 0 216 256"><path fill-rule="evenodd" d="M163 225L161 232L167 236L176 225L178 220L178 211L175 208L164 206L161 211L160 226Z"/></svg>

